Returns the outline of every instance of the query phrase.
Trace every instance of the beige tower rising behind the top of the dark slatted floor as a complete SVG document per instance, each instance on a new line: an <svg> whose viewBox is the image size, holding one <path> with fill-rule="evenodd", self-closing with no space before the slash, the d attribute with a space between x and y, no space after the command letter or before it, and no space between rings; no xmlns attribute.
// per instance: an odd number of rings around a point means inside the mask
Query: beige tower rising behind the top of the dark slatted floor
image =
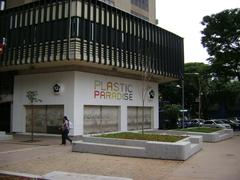
<svg viewBox="0 0 240 180"><path fill-rule="evenodd" d="M6 8L13 8L37 0L7 0ZM155 0L99 0L115 6L123 11L156 24L156 3Z"/></svg>

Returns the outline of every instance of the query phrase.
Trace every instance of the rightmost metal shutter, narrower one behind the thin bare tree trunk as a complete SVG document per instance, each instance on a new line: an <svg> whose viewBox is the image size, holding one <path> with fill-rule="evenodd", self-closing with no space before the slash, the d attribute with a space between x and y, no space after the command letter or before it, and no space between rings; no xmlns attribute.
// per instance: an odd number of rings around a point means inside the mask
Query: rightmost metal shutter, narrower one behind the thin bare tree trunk
<svg viewBox="0 0 240 180"><path fill-rule="evenodd" d="M142 128L142 107L128 107L128 130ZM152 122L152 108L144 107L144 129L150 129Z"/></svg>

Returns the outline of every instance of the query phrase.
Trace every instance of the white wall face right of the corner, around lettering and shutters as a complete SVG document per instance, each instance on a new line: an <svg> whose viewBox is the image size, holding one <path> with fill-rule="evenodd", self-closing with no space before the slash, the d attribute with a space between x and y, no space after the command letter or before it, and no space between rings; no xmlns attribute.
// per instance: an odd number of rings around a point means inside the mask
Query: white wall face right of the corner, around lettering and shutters
<svg viewBox="0 0 240 180"><path fill-rule="evenodd" d="M75 133L82 134L83 129L83 107L85 105L113 105L120 106L121 108L121 129L122 131L127 130L127 106L142 106L142 81L118 78L113 76L103 76L97 74L75 72L75 81L76 81L76 95L75 98L78 99L76 102L76 117L81 119L79 121L79 129L76 129ZM133 100L113 100L113 99L100 99L99 97L94 98L94 85L95 80L101 81L103 83L107 82L117 82L124 83L132 86L132 95ZM155 98L152 101L149 101L146 98L145 106L154 107L153 110L153 119L154 122L153 128L158 128L158 84L157 83L148 83L147 86L151 87L155 91ZM104 86L103 88L106 88ZM98 88L98 90L100 87ZM105 91L106 92L106 91ZM78 113L79 112L79 113Z"/></svg>

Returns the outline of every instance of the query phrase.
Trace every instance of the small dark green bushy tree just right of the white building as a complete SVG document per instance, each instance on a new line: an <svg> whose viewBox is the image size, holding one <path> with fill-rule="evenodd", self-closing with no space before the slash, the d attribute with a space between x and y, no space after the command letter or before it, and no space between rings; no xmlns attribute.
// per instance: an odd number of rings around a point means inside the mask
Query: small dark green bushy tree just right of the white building
<svg viewBox="0 0 240 180"><path fill-rule="evenodd" d="M168 120L170 121L169 128L177 127L177 120L180 113L180 106L177 104L168 104L163 107L164 113Z"/></svg>

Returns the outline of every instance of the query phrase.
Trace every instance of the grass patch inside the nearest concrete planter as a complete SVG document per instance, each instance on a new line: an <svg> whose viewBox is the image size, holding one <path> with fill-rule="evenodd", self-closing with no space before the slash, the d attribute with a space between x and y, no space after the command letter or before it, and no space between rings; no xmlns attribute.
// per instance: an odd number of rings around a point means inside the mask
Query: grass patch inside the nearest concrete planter
<svg viewBox="0 0 240 180"><path fill-rule="evenodd" d="M122 132L113 134L101 134L96 137L103 138L117 138L117 139L132 139L132 140L146 140L146 141L160 141L160 142L177 142L186 136L172 136L160 134L141 134L133 132Z"/></svg>

